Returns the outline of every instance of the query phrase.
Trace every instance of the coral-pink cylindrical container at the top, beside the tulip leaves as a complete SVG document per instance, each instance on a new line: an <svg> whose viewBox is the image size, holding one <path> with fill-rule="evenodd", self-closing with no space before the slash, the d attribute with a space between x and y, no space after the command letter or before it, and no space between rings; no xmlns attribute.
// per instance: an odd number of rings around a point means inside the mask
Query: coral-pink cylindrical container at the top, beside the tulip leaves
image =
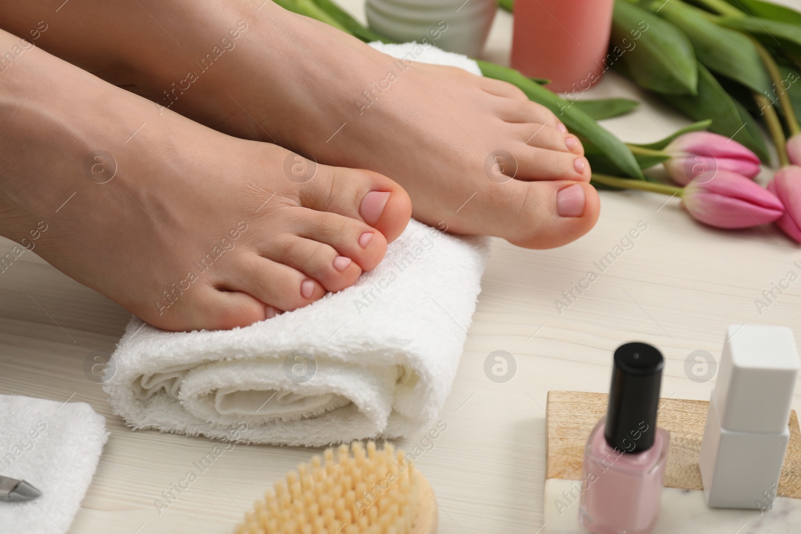
<svg viewBox="0 0 801 534"><path fill-rule="evenodd" d="M548 78L550 90L586 90L601 79L614 0L515 0L512 66Z"/></svg>

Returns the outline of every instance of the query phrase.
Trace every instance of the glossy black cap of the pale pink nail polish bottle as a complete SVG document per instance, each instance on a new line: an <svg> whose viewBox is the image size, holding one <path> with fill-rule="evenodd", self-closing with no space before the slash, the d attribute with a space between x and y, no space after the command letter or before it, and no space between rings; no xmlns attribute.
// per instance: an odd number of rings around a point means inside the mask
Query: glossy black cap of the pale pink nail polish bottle
<svg viewBox="0 0 801 534"><path fill-rule="evenodd" d="M662 367L662 353L647 343L626 343L614 351L604 432L610 447L634 453L654 444Z"/></svg>

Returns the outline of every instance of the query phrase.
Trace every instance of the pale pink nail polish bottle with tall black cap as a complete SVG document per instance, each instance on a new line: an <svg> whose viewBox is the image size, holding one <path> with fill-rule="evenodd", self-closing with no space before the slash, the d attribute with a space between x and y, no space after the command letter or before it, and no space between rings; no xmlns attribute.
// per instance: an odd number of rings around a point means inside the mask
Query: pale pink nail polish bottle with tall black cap
<svg viewBox="0 0 801 534"><path fill-rule="evenodd" d="M614 351L606 417L584 450L579 519L594 534L648 534L656 525L670 447L656 426L664 365L646 343Z"/></svg>

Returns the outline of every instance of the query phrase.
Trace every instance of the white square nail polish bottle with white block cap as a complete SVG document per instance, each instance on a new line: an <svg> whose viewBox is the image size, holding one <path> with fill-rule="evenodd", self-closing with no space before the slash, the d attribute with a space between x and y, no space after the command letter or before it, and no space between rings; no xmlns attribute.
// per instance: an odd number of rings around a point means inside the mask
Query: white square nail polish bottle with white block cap
<svg viewBox="0 0 801 534"><path fill-rule="evenodd" d="M798 372L790 328L729 327L698 458L708 506L771 508Z"/></svg>

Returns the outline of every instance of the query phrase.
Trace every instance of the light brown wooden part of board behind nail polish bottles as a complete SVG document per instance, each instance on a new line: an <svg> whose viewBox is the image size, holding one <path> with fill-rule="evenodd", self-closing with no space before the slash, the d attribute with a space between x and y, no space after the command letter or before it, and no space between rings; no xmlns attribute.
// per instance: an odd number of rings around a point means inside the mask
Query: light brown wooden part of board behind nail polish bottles
<svg viewBox="0 0 801 534"><path fill-rule="evenodd" d="M548 391L545 406L545 478L582 480L584 446L590 432L606 415L606 393ZM706 400L660 399L658 426L670 432L666 488L703 489L698 455ZM798 416L790 414L790 444L784 458L778 495L801 498L801 434Z"/></svg>

